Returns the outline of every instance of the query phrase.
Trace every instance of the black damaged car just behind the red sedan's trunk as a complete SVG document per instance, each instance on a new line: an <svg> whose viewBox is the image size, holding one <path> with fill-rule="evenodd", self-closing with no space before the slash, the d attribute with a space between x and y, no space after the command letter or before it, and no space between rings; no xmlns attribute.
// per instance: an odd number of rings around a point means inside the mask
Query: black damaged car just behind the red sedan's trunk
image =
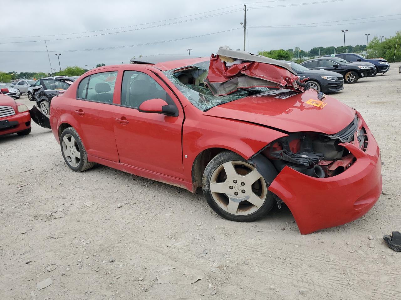
<svg viewBox="0 0 401 300"><path fill-rule="evenodd" d="M33 96L38 108L45 115L50 112L50 102L61 90L67 90L79 76L63 77L58 79L43 78L36 82L33 87Z"/></svg>

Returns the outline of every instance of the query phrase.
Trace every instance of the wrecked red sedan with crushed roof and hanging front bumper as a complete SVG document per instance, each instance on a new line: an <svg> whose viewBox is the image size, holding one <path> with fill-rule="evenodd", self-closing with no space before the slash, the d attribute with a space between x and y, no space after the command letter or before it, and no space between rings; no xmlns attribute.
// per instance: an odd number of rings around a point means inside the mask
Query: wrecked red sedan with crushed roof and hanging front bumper
<svg viewBox="0 0 401 300"><path fill-rule="evenodd" d="M362 116L283 62L220 48L85 73L53 98L67 165L95 163L191 192L249 222L283 202L301 234L366 214L382 188L379 147Z"/></svg>

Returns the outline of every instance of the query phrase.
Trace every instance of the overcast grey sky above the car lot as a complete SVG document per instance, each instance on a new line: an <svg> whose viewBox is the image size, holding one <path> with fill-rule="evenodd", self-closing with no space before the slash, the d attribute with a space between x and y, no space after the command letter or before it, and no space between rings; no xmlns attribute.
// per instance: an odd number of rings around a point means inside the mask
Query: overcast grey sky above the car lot
<svg viewBox="0 0 401 300"><path fill-rule="evenodd" d="M298 5L311 2L314 4ZM222 45L242 50L243 28L240 22L244 18L243 3L240 0L2 0L0 70L50 72L45 39L51 65L56 71L59 63L55 53L61 53L61 68L73 65L86 68L86 64L93 68L99 63L129 63L132 56L140 54L188 54L186 49L192 49L191 55L210 56ZM315 46L342 46L342 29L349 30L345 37L346 45L366 44L365 33L371 33L370 39L375 35L388 37L401 30L400 0L249 0L245 4L249 26L246 50L253 53L296 46L306 51ZM399 15L388 16L394 14ZM371 18L377 16L385 17ZM366 19L350 20L356 18ZM378 20L385 21L374 22ZM309 25L298 25L306 23ZM288 25L296 26L253 28ZM150 26L158 27L142 29ZM231 31L222 32L225 30ZM125 32L106 34L118 31ZM97 36L87 37L90 35ZM193 36L198 37L189 38ZM61 38L64 40L57 40ZM182 40L115 49L66 51L175 39ZM36 40L39 42L26 42ZM4 44L7 42L22 43Z"/></svg>

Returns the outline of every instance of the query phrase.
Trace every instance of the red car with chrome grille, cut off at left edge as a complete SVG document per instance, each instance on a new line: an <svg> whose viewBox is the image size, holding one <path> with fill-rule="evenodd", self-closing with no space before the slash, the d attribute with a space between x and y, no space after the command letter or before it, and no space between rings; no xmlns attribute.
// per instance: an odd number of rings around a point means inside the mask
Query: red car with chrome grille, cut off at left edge
<svg viewBox="0 0 401 300"><path fill-rule="evenodd" d="M30 114L25 104L16 102L5 95L7 88L0 92L0 136L16 133L20 136L30 134Z"/></svg>

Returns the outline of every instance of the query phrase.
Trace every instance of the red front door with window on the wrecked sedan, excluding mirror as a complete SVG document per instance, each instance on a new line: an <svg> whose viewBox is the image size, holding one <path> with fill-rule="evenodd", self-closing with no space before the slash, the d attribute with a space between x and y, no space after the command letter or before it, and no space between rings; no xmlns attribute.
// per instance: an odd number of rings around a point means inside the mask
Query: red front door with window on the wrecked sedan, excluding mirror
<svg viewBox="0 0 401 300"><path fill-rule="evenodd" d="M178 117L139 112L142 102L155 98L175 105ZM183 179L181 133L184 112L168 86L146 69L142 72L126 70L120 103L121 106L113 107L120 162Z"/></svg>

